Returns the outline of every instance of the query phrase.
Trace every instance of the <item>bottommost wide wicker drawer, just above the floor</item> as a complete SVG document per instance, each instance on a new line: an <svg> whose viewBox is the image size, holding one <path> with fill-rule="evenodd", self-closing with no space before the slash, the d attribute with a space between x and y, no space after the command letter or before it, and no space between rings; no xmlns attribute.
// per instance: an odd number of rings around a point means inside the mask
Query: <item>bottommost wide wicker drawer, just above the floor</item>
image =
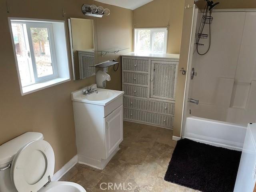
<svg viewBox="0 0 256 192"><path fill-rule="evenodd" d="M128 108L124 108L124 118L135 120L135 121L137 120L137 121L148 122L151 124L157 124L157 125L165 126L169 128L172 128L173 126L172 116L160 115L160 114L128 109Z"/></svg>

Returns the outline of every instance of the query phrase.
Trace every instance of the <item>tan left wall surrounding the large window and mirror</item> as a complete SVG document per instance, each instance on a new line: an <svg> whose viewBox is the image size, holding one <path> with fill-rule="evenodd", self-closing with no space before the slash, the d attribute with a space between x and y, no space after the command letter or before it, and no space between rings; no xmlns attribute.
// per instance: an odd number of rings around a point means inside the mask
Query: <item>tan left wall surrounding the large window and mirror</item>
<svg viewBox="0 0 256 192"><path fill-rule="evenodd" d="M42 132L45 140L50 142L54 149L55 171L64 166L77 153L70 92L95 83L95 76L77 82L71 80L21 96L7 18L65 20L69 43L67 18L92 18L82 14L81 6L84 3L100 5L91 0L45 0L43 3L38 0L9 0L10 13L7 13L6 2L0 1L0 23L2 25L0 35L0 144L24 132ZM130 47L131 42L128 42L126 38L132 37L132 11L111 5L105 7L110 8L110 16L96 19L101 31L98 34L100 42L115 39L112 42L113 46L122 44L122 46ZM66 11L64 17L62 17L62 8ZM70 74L72 74L69 45L68 57ZM119 58L119 54L112 57ZM115 73L110 70L113 80L108 83L108 87L121 88L120 69Z"/></svg>

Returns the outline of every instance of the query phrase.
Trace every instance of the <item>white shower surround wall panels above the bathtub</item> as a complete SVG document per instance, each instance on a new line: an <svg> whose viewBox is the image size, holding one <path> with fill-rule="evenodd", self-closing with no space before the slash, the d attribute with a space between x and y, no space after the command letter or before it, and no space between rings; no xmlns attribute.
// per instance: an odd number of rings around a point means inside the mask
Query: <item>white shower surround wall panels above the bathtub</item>
<svg viewBox="0 0 256 192"><path fill-rule="evenodd" d="M234 10L212 16L210 50L204 56L194 52L192 58L197 76L190 80L189 94L200 102L188 108L194 116L247 126L256 122L256 12ZM201 18L198 14L198 22ZM207 25L204 33L208 30ZM208 42L200 40L204 44L200 52Z"/></svg>

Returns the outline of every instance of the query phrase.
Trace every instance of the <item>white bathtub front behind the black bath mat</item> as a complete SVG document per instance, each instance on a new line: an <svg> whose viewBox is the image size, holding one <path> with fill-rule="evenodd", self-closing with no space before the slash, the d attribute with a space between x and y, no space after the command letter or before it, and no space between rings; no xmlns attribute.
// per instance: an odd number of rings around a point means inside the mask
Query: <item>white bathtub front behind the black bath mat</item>
<svg viewBox="0 0 256 192"><path fill-rule="evenodd" d="M190 116L182 138L242 151L245 134L246 127L242 125Z"/></svg>

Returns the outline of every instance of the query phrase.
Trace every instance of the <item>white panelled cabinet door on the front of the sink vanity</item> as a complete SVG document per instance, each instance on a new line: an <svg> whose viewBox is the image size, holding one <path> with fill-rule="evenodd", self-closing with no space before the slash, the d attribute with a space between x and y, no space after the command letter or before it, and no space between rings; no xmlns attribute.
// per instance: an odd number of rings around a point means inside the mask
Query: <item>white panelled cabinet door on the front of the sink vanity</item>
<svg viewBox="0 0 256 192"><path fill-rule="evenodd" d="M106 157L108 158L123 140L123 105L106 116L104 124Z"/></svg>

